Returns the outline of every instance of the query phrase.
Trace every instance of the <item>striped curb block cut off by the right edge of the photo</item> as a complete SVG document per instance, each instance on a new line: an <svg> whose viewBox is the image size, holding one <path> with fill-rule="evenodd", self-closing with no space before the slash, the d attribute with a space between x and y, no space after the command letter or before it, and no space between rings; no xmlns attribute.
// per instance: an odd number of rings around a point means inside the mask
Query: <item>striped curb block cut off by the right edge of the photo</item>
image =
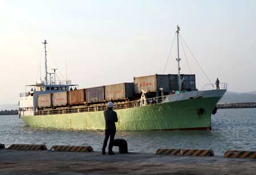
<svg viewBox="0 0 256 175"><path fill-rule="evenodd" d="M241 158L241 159L256 159L256 151L235 151L228 150L224 154L225 158Z"/></svg>

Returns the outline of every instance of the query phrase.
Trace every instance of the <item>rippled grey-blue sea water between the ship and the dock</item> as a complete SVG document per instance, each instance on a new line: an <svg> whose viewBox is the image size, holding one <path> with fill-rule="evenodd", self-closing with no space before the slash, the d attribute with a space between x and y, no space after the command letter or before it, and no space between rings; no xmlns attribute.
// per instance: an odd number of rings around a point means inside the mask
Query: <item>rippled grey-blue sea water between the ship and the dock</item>
<svg viewBox="0 0 256 175"><path fill-rule="evenodd" d="M158 148L256 150L256 109L218 109L210 131L118 131L115 138L127 140L129 151L153 152ZM0 143L92 146L100 151L104 131L36 129L18 116L0 116ZM117 151L117 148L114 148Z"/></svg>

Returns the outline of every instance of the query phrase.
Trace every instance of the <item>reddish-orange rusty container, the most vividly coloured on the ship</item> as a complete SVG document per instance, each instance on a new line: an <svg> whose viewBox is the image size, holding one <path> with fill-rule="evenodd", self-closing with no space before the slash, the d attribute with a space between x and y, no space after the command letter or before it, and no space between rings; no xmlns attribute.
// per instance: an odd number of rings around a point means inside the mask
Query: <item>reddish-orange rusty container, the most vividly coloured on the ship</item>
<svg viewBox="0 0 256 175"><path fill-rule="evenodd" d="M84 91L85 89L68 91L68 104L69 105L84 104L84 101L85 101Z"/></svg>

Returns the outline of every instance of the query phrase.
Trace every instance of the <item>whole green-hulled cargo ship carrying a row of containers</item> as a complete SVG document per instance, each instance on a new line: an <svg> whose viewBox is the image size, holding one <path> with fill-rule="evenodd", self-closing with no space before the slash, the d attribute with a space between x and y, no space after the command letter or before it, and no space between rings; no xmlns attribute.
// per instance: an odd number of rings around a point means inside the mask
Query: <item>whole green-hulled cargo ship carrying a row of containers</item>
<svg viewBox="0 0 256 175"><path fill-rule="evenodd" d="M47 41L44 40L46 77L20 93L19 117L31 127L103 130L103 111L112 101L118 114L117 130L210 130L216 104L226 92L226 83L199 91L195 75L180 74L177 27L177 74L134 77L133 82L79 89L70 80L52 80L47 71ZM48 79L49 78L49 79Z"/></svg>

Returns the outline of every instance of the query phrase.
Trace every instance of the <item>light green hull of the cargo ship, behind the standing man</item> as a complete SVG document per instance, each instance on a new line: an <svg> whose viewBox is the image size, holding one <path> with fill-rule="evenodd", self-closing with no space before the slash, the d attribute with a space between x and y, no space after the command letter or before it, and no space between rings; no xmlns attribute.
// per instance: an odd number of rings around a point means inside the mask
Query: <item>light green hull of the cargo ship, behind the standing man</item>
<svg viewBox="0 0 256 175"><path fill-rule="evenodd" d="M222 95L200 97L117 109L115 110L118 114L117 130L211 129L212 112L221 97ZM203 109L203 113L199 112L200 108ZM102 111L22 116L21 118L32 127L75 130L105 129Z"/></svg>

